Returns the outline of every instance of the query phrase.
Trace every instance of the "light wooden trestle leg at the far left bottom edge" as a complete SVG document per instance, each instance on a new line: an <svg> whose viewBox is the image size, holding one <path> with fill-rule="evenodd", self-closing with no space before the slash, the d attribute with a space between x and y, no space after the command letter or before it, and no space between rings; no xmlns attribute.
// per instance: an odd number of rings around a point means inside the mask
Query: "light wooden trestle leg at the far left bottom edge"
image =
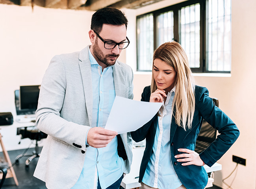
<svg viewBox="0 0 256 189"><path fill-rule="evenodd" d="M19 185L19 182L17 180L17 177L16 177L16 174L14 172L14 169L13 167L11 167L11 160L10 160L10 157L9 157L9 154L8 152L6 151L6 148L4 147L4 143L2 141L2 135L0 133L0 145L2 147L2 150L3 150L3 154L4 154L4 159L5 161L7 162L7 165L8 167L10 167L10 169L7 170L7 173L6 173L6 167L4 169L1 169L2 170L2 173L0 173L0 175L3 175L2 176L2 180L4 182L4 179L5 178L13 178L14 181L15 181L15 184L18 186ZM5 176L5 177L4 177ZM2 187L2 181L0 183L0 188Z"/></svg>

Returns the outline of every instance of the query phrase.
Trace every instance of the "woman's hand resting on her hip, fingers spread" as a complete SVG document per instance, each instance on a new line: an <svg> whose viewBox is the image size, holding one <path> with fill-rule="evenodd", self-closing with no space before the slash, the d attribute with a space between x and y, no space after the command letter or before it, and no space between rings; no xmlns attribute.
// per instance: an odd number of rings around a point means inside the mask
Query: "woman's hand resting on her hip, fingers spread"
<svg viewBox="0 0 256 189"><path fill-rule="evenodd" d="M186 148L179 148L179 152L184 152L184 154L178 154L174 156L174 158L177 159L178 162L185 162L182 163L181 165L186 166L186 165L197 165L197 166L203 166L205 163L203 160L201 160L200 156L198 153L196 153L193 150L188 150ZM182 158L182 159L179 159Z"/></svg>

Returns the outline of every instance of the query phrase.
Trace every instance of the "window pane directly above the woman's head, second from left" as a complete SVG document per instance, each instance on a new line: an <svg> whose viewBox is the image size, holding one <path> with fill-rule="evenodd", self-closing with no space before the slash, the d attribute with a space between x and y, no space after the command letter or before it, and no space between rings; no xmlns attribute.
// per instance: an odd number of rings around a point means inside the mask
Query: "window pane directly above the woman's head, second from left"
<svg viewBox="0 0 256 189"><path fill-rule="evenodd" d="M162 13L157 16L157 43L160 46L168 41L173 41L173 11Z"/></svg>

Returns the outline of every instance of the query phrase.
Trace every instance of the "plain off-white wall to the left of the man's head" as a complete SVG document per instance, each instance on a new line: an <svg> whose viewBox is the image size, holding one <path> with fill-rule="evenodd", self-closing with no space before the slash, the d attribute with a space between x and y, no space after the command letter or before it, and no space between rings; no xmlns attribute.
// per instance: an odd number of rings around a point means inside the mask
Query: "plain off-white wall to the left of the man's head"
<svg viewBox="0 0 256 189"><path fill-rule="evenodd" d="M40 84L54 55L89 44L92 13L0 4L0 112L15 114L14 90Z"/></svg>

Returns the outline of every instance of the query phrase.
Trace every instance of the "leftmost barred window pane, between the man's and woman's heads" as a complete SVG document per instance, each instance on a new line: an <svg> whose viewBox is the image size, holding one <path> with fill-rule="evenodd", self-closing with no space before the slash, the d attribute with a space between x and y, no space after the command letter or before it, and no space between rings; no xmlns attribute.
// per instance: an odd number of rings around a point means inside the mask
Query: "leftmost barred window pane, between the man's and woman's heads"
<svg viewBox="0 0 256 189"><path fill-rule="evenodd" d="M137 70L152 70L153 25L153 14L137 18Z"/></svg>

